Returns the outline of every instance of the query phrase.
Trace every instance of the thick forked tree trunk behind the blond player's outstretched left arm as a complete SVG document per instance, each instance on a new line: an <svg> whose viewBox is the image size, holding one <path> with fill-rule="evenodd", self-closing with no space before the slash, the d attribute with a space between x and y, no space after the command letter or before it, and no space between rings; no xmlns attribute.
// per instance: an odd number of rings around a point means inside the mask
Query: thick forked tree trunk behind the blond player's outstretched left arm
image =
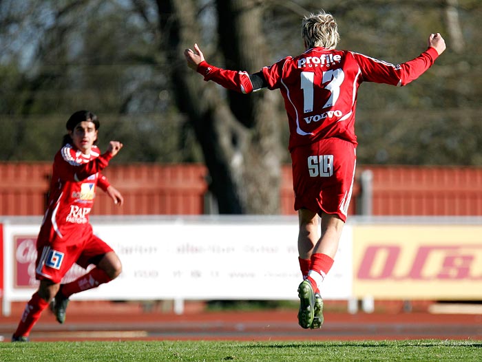
<svg viewBox="0 0 482 362"><path fill-rule="evenodd" d="M195 3L159 0L160 29L176 103L196 131L219 212L279 213L282 122L273 116L275 95L229 92L226 99L219 87L202 83L187 69L182 52L200 34ZM218 1L220 47L231 69L255 72L264 65L262 12L256 3Z"/></svg>

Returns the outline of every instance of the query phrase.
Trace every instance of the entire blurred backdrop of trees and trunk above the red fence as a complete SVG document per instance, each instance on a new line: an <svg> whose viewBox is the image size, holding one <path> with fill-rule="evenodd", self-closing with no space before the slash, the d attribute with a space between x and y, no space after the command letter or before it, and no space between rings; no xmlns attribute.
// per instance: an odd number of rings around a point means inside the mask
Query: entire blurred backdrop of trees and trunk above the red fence
<svg viewBox="0 0 482 362"><path fill-rule="evenodd" d="M255 72L302 52L300 19L320 8L339 48L399 63L430 32L448 45L407 87L362 85L359 163L481 164L478 0L2 0L1 160L50 160L65 120L87 108L102 140L127 145L119 162L205 162L221 213L277 213L280 96L202 83L182 51L197 41L212 63Z"/></svg>

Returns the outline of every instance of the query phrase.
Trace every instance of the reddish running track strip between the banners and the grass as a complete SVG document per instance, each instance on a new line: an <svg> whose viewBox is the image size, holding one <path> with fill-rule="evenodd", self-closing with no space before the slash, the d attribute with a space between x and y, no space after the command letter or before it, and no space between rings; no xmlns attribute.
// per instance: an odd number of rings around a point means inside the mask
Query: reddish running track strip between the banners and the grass
<svg viewBox="0 0 482 362"><path fill-rule="evenodd" d="M0 339L10 341L23 310L15 304L1 317ZM482 315L432 315L425 312L356 315L326 312L321 330L297 325L297 310L268 312L202 312L184 315L145 312L132 304L72 301L67 321L57 323L45 311L30 334L31 341L343 341L384 339L482 340Z"/></svg>

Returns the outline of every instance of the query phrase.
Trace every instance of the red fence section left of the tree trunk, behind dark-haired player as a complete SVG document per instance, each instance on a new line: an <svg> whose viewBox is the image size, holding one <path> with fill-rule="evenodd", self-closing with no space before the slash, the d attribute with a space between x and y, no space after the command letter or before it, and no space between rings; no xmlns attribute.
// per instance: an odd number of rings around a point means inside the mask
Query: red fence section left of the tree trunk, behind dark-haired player
<svg viewBox="0 0 482 362"><path fill-rule="evenodd" d="M50 163L0 163L0 215L43 215ZM103 192L93 215L198 215L207 191L202 165L112 165L103 173L123 193L118 207Z"/></svg>

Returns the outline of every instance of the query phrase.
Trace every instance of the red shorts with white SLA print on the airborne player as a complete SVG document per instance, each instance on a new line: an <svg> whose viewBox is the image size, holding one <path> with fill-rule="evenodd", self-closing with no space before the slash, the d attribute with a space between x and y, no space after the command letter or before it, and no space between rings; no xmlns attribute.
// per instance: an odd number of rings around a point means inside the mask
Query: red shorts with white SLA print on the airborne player
<svg viewBox="0 0 482 362"><path fill-rule="evenodd" d="M355 164L355 145L341 138L328 138L291 151L295 210L308 209L338 215L348 213Z"/></svg>

